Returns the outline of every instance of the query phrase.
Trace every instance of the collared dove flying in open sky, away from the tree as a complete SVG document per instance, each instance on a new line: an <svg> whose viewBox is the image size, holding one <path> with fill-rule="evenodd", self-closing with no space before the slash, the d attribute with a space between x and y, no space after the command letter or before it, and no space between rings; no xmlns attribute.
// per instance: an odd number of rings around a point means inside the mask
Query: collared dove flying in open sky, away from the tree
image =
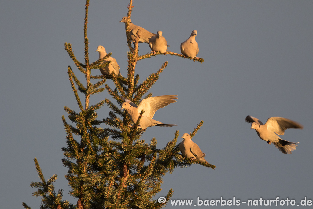
<svg viewBox="0 0 313 209"><path fill-rule="evenodd" d="M248 115L245 119L247 123L251 123L251 128L256 131L259 138L266 141L268 144L274 143L275 147L278 148L284 154L291 154L291 151L295 150L299 142L289 142L281 139L278 135L284 135L287 128L300 128L303 126L295 121L289 120L282 117L270 117L266 123L263 123L251 115ZM278 134L278 135L276 135Z"/></svg>

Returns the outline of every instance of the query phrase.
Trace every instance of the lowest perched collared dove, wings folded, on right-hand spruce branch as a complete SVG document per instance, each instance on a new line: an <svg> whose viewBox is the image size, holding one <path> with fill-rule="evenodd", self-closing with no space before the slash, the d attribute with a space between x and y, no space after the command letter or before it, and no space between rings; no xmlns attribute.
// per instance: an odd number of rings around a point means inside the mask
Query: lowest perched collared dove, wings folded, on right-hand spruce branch
<svg viewBox="0 0 313 209"><path fill-rule="evenodd" d="M202 162L208 163L204 159L205 153L201 151L198 144L191 141L190 135L188 133L184 133L182 135L182 138L184 140L179 144L179 149L185 158L191 158L191 161L198 159L201 160Z"/></svg>

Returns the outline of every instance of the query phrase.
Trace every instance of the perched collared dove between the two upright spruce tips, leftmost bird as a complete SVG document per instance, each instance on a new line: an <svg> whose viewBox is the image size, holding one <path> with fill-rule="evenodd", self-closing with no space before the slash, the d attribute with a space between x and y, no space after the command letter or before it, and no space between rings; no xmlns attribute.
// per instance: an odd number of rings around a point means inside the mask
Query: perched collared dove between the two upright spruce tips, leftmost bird
<svg viewBox="0 0 313 209"><path fill-rule="evenodd" d="M99 45L97 47L96 52L99 52L99 59L105 57L107 55L105 48L101 45ZM100 72L102 75L110 75L112 72L114 72L115 75L120 75L120 66L117 64L116 60L113 57L108 57L106 58L103 62L101 62L102 64L105 62L111 61L111 63L107 66L105 66L104 68L99 68ZM124 85L127 85L126 82L121 81Z"/></svg>

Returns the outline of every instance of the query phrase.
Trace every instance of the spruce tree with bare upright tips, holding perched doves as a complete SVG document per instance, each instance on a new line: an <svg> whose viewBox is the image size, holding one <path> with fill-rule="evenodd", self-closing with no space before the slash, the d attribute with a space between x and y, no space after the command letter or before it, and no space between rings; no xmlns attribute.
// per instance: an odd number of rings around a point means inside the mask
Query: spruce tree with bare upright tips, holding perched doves
<svg viewBox="0 0 313 209"><path fill-rule="evenodd" d="M151 52L146 55L138 55L140 30L137 32L136 41L133 45L131 43L128 32L133 6L132 0L130 0L127 13L128 23L126 24L126 40L130 50L127 52L127 78L114 73L108 76L92 76L91 71L93 69L108 65L108 63L102 64L101 62L111 56L111 53L90 63L89 40L87 38L88 8L89 0L86 0L85 62L81 63L76 59L70 43L64 44L65 50L74 61L76 68L85 75L86 79L86 85L84 85L77 79L72 68L68 66L70 85L80 112L64 107L71 123L68 123L62 116L67 133L67 147L62 148L65 155L62 162L68 168L65 178L71 187L70 194L77 198L77 203L74 205L69 201L62 200L63 190L60 189L57 193L54 191L53 183L57 179L57 175L45 181L36 158L34 161L41 182L31 183L33 188L38 188L38 191L35 191L33 195L42 197L40 208L162 208L166 206L173 194L173 190L170 189L165 197L166 201L153 200L153 197L161 191L162 176L167 172L172 173L176 167L201 164L214 169L215 165L206 164L200 160L192 162L178 153L180 151L179 143L177 144L178 131L163 149L157 149L156 138L152 138L149 144L141 139L142 134L146 131L146 129L138 128L143 111L136 124L132 124L127 112L120 110L119 106L124 102L122 97L126 97L138 105L143 96L158 80L160 73L166 68L167 62L164 62L155 73L152 73L139 84L139 75L135 75L137 61L154 56L154 54ZM156 55L162 54L156 52ZM167 55L183 57L183 55L174 52L167 52ZM193 60L201 63L204 61L202 58ZM114 89L107 84L105 87L101 87L105 84L106 79L113 80ZM99 81L92 83L91 80ZM128 85L124 85L121 81ZM89 104L90 96L105 90L115 102L106 98L96 104ZM78 92L85 96L85 104L83 104ZM151 97L151 95L148 93L144 98ZM97 111L104 104L111 109L109 116L102 120L97 119ZM99 127L103 123L107 128ZM197 133L202 124L203 121L194 128L190 134L191 137ZM23 206L30 208L24 202Z"/></svg>

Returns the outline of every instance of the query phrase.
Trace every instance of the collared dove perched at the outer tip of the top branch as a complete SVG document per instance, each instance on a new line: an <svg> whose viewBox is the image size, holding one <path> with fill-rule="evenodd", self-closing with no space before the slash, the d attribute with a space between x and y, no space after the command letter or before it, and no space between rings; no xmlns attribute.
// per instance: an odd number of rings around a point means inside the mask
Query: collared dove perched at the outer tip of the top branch
<svg viewBox="0 0 313 209"><path fill-rule="evenodd" d="M196 60L198 59L196 56L199 52L199 46L196 42L197 33L197 30L193 30L189 38L180 44L180 51L182 52L182 55L190 57L191 59L195 57Z"/></svg>

